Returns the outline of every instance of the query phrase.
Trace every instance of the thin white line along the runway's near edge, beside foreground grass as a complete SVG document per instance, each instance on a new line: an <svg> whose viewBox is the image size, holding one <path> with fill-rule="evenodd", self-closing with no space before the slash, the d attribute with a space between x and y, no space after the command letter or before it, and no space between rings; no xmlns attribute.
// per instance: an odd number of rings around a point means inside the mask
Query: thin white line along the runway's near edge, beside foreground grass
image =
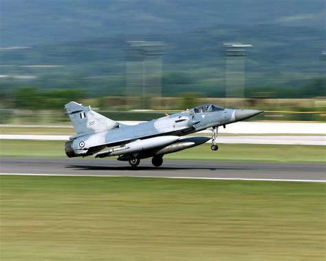
<svg viewBox="0 0 326 261"><path fill-rule="evenodd" d="M29 173L0 173L0 176L69 176L69 177L102 177L102 178L175 178L193 180L248 180L248 181L283 181L283 182L326 182L326 180L292 180L279 178L205 178L205 177L164 177L164 176L119 176L119 175L80 175L80 174L29 174Z"/></svg>

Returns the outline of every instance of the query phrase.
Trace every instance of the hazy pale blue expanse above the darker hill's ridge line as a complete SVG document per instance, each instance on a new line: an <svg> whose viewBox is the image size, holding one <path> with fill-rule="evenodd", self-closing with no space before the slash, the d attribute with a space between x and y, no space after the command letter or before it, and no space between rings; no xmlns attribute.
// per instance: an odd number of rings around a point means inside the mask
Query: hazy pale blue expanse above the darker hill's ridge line
<svg viewBox="0 0 326 261"><path fill-rule="evenodd" d="M180 34L223 24L324 29L325 16L325 0L1 0L0 45L115 34Z"/></svg>

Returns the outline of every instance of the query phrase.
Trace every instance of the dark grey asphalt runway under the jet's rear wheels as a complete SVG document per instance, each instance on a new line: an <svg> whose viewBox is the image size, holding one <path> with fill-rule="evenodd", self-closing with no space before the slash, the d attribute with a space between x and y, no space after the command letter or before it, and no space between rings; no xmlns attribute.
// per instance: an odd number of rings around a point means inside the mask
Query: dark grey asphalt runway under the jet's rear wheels
<svg viewBox="0 0 326 261"><path fill-rule="evenodd" d="M326 182L325 164L240 163L164 160L153 167L142 160L138 167L107 159L1 158L0 174L55 176L131 176L151 178L199 178Z"/></svg>

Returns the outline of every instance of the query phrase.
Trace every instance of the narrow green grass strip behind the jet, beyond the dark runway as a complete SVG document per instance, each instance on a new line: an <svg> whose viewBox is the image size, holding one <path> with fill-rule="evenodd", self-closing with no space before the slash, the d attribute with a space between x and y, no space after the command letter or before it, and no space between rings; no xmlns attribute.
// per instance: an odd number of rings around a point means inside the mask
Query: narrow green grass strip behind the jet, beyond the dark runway
<svg viewBox="0 0 326 261"><path fill-rule="evenodd" d="M0 156L6 157L66 157L64 141L0 140ZM217 152L209 144L166 154L175 160L230 160L280 163L325 163L324 146L305 145L235 145L220 144Z"/></svg>

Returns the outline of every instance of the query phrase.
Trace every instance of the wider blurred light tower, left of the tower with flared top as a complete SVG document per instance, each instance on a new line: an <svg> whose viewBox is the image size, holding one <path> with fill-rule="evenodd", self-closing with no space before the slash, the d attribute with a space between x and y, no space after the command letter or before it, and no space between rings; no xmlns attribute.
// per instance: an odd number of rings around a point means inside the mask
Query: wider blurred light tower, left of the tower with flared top
<svg viewBox="0 0 326 261"><path fill-rule="evenodd" d="M142 97L138 103L142 109L149 107L152 96L162 96L162 54L162 42L127 41L127 96Z"/></svg>

